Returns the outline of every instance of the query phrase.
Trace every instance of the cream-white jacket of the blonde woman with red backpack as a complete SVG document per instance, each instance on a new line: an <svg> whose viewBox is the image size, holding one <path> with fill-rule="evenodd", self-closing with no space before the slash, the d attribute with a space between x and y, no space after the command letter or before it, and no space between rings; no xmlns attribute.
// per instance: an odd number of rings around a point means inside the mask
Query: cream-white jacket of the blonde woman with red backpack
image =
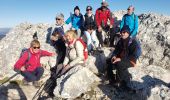
<svg viewBox="0 0 170 100"><path fill-rule="evenodd" d="M80 41L76 39L73 42L68 43L66 50L66 57L64 59L63 65L70 65L70 67L75 66L78 63L84 62L84 47Z"/></svg>

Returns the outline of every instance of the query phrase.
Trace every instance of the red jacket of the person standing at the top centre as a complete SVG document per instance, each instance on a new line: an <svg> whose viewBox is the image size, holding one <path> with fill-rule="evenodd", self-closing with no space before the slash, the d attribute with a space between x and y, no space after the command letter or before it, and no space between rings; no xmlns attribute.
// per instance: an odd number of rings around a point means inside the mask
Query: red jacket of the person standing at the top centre
<svg viewBox="0 0 170 100"><path fill-rule="evenodd" d="M114 20L109 9L102 11L101 8L98 8L96 10L95 18L97 27L102 26L102 21L104 22L104 25L107 26L108 19L110 20L110 24L113 25Z"/></svg>

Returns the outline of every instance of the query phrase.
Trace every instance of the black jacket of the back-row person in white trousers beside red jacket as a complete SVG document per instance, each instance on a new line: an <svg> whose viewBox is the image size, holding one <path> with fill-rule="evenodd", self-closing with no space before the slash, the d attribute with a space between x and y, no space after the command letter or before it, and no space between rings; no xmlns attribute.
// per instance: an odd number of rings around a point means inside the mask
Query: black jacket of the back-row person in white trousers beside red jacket
<svg viewBox="0 0 170 100"><path fill-rule="evenodd" d="M84 15L84 28L85 30L96 29L95 16L93 14L91 16Z"/></svg>

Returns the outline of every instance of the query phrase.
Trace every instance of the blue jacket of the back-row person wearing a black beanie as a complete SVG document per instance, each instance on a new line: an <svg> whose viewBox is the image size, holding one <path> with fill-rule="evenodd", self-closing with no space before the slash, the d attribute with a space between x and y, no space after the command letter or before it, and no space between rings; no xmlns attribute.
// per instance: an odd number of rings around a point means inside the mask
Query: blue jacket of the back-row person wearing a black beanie
<svg viewBox="0 0 170 100"><path fill-rule="evenodd" d="M72 23L72 27L76 30L83 28L83 15L80 14L79 16L76 16L75 14L72 14L67 20L66 24Z"/></svg>

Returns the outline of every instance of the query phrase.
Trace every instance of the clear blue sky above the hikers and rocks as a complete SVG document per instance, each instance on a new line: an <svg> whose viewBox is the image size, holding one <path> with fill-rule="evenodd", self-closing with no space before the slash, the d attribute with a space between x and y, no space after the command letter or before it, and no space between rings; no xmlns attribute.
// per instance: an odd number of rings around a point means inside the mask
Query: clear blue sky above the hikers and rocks
<svg viewBox="0 0 170 100"><path fill-rule="evenodd" d="M0 0L0 27L14 27L21 22L54 23L55 15L63 12L65 19L76 5L82 14L87 5L93 12L100 7L102 0ZM106 0L111 11L126 10L134 5L136 13L156 12L170 15L170 0Z"/></svg>

